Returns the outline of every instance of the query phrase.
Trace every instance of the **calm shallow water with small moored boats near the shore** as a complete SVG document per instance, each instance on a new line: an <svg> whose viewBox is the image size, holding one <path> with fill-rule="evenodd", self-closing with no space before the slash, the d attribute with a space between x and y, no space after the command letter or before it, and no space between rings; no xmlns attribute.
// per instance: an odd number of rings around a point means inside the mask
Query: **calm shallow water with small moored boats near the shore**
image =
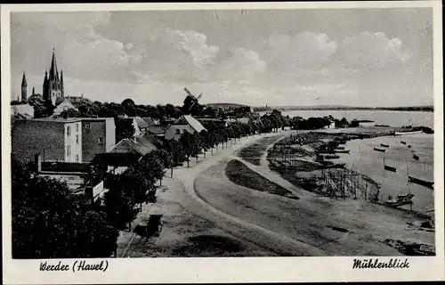
<svg viewBox="0 0 445 285"><path fill-rule="evenodd" d="M407 142L402 144L401 141ZM380 143L389 144L385 152L374 151L380 147ZM412 147L409 149L408 145ZM416 195L413 198L413 209L426 211L434 208L433 189L416 183L408 183L408 175L433 181L433 134L411 134L403 136L384 136L372 139L353 140L347 142L346 150L350 154L341 154L340 159L346 163L346 167L354 169L363 175L368 175L377 183L381 183L380 199L388 199L401 194L411 192ZM413 159L416 153L419 160ZM397 167L397 171L385 171L384 164ZM409 206L404 206L409 208Z"/></svg>

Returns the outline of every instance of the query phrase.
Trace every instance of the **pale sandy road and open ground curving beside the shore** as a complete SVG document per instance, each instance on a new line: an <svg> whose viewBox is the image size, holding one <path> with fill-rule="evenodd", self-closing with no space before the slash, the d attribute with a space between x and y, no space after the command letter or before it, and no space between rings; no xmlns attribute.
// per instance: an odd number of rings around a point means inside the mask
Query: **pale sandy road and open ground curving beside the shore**
<svg viewBox="0 0 445 285"><path fill-rule="evenodd" d="M358 200L315 197L272 172L264 156L261 166L233 156L234 151L266 136L281 139L280 134L243 138L193 167L175 170L169 188L182 196L183 208L281 256L398 256L381 240L433 242L433 233L407 231L409 215ZM304 199L287 200L231 183L224 172L231 159Z"/></svg>

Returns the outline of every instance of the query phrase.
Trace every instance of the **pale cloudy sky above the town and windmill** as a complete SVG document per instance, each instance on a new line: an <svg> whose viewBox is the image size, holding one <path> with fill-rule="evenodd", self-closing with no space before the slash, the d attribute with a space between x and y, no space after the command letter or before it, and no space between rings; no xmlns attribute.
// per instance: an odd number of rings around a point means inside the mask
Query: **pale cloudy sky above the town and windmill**
<svg viewBox="0 0 445 285"><path fill-rule="evenodd" d="M13 12L12 99L42 93L253 106L433 104L432 8Z"/></svg>

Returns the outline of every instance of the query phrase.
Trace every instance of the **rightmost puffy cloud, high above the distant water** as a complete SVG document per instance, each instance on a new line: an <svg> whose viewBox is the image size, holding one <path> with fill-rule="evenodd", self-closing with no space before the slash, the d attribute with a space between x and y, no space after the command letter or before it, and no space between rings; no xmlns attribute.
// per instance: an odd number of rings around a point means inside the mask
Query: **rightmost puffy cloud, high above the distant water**
<svg viewBox="0 0 445 285"><path fill-rule="evenodd" d="M399 38L388 38L382 32L362 32L346 37L338 48L338 60L352 68L401 64L409 61L411 56Z"/></svg>

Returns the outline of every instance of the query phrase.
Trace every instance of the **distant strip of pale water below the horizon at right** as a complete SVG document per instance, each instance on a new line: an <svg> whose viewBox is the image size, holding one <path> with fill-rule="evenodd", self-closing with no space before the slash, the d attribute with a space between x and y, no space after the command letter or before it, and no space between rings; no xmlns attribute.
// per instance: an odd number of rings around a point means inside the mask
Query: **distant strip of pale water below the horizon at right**
<svg viewBox="0 0 445 285"><path fill-rule="evenodd" d="M300 116L302 118L325 117L332 115L334 118L347 118L351 121L354 118L370 119L377 125L389 126L428 126L433 128L433 112L414 111L390 111L390 110L289 110L283 111L284 116ZM409 121L410 120L410 121Z"/></svg>

